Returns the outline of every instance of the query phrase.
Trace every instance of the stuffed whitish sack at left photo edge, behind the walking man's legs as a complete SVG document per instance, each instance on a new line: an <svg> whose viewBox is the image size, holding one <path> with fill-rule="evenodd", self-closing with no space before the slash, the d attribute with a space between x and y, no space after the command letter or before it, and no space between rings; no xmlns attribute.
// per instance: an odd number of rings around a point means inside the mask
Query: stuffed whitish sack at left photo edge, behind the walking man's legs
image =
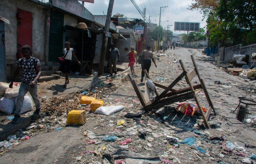
<svg viewBox="0 0 256 164"><path fill-rule="evenodd" d="M15 110L15 101L14 99L8 99L2 97L0 99L0 110L6 114L12 114Z"/></svg>

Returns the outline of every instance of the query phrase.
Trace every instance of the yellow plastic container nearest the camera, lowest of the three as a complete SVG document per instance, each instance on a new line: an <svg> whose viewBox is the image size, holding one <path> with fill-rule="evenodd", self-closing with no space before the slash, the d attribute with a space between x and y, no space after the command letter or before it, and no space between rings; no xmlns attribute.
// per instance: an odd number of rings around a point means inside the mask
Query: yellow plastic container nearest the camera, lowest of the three
<svg viewBox="0 0 256 164"><path fill-rule="evenodd" d="M85 110L71 110L68 113L67 124L83 125L86 123Z"/></svg>

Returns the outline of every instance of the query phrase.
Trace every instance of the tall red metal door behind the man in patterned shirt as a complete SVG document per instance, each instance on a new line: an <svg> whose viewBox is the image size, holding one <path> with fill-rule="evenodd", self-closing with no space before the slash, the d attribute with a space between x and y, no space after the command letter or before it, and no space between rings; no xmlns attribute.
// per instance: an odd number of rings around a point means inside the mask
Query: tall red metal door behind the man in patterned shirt
<svg viewBox="0 0 256 164"><path fill-rule="evenodd" d="M23 57L21 49L29 45L32 50L32 13L29 11L17 10L17 59Z"/></svg>

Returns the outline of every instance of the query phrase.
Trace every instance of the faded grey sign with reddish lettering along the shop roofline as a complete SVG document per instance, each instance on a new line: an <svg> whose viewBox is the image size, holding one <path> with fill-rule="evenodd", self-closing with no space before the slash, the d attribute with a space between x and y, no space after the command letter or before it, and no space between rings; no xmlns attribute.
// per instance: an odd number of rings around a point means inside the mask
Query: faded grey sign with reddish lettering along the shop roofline
<svg viewBox="0 0 256 164"><path fill-rule="evenodd" d="M84 19L94 21L93 15L81 3L74 0L52 0L52 5L62 10L80 16Z"/></svg>

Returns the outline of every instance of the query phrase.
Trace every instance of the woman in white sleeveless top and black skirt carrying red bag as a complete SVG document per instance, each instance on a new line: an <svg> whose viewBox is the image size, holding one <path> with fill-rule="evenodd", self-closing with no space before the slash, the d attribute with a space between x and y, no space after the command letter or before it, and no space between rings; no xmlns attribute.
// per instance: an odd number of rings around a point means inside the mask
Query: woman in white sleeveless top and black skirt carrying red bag
<svg viewBox="0 0 256 164"><path fill-rule="evenodd" d="M74 53L74 49L70 48L70 43L66 42L65 43L66 48L64 49L64 54L65 54L65 63L61 64L60 66L60 71L66 74L66 80L65 80L65 84L64 86L67 86L67 84L69 83L69 79L68 79L68 74L71 71L71 59L72 59L72 55L74 56L74 58L76 59L77 63L80 65L81 63L78 61L75 53Z"/></svg>

